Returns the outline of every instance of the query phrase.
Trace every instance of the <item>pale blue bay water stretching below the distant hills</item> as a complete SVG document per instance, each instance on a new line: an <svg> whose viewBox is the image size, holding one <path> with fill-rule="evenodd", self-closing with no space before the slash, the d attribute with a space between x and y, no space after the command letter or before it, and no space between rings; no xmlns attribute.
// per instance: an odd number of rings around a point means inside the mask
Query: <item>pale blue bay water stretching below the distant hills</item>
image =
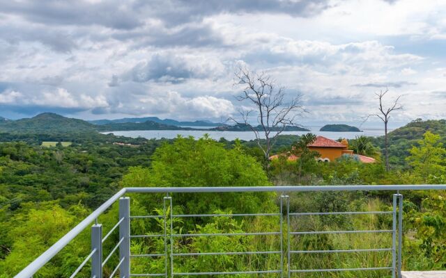
<svg viewBox="0 0 446 278"><path fill-rule="evenodd" d="M206 128L201 126L190 126L192 128ZM321 126L310 126L309 129L312 131L284 131L282 134L291 135L302 135L306 133L314 133L318 136L324 136L332 140L339 138L354 139L356 136L383 136L384 129L363 129L363 132L329 132L329 131L319 131ZM256 137L252 131L174 131L174 130L162 130L162 131L112 131L104 133L113 133L116 136L126 136L132 138L143 137L147 139L161 139L161 138L176 138L178 134L183 137L193 136L194 138L200 138L204 134L208 133L209 136L215 140L220 138L225 138L226 140L235 140L236 138L240 140L254 140Z"/></svg>

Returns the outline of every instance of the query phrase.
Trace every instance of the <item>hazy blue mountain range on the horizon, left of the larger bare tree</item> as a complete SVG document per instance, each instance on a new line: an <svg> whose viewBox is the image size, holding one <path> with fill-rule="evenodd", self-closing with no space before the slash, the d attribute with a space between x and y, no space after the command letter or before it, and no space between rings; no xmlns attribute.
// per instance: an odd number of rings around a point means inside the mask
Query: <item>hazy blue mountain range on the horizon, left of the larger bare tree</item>
<svg viewBox="0 0 446 278"><path fill-rule="evenodd" d="M180 122L177 120L164 119L161 120L159 117L125 117L123 119L117 120L91 120L88 121L91 124L124 124L124 123L142 123L142 122L157 122L159 124L167 124L169 126L224 126L225 124L217 124L215 122L210 122L208 120L199 120L194 122Z"/></svg>

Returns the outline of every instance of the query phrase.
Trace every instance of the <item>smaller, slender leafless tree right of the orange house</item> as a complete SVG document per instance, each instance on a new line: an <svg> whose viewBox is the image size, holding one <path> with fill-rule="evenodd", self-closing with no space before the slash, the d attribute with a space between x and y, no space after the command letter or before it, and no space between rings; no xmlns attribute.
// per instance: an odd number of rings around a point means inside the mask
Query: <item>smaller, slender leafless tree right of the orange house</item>
<svg viewBox="0 0 446 278"><path fill-rule="evenodd" d="M365 117L364 122L367 121L369 117L378 117L384 123L385 169L388 171L390 170L390 165L389 165L389 138L387 136L387 124L389 123L390 120L390 113L392 113L393 111L403 109L403 106L399 104L399 99L401 98L401 95L399 95L397 99L394 100L391 106L389 106L388 108L384 108L383 97L385 96L385 94L387 94L387 92L389 92L389 89L386 89L385 91L380 90L380 92L375 93L376 97L379 99L378 110L380 113L368 115L367 117Z"/></svg>

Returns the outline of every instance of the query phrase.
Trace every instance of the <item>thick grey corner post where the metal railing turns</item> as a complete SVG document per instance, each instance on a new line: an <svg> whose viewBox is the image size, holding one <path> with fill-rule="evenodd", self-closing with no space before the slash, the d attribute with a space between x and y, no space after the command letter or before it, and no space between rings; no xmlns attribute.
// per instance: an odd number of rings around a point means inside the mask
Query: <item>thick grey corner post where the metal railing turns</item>
<svg viewBox="0 0 446 278"><path fill-rule="evenodd" d="M123 219L119 224L119 240L123 242L119 245L119 260L123 260L119 267L119 277L130 277L130 198L121 197L119 199L119 219Z"/></svg>

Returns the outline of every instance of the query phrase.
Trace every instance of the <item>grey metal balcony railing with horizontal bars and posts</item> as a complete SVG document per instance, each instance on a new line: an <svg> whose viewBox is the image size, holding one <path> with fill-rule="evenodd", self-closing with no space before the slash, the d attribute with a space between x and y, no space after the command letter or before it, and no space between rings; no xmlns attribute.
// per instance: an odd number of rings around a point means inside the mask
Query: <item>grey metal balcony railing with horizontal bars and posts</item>
<svg viewBox="0 0 446 278"><path fill-rule="evenodd" d="M332 211L332 212L291 212L290 197L286 193L291 192L318 192L318 191L376 191L387 190L396 191L393 194L392 211ZM399 194L403 190L446 190L446 185L394 185L394 186L254 186L254 187L189 187L189 188L123 188L112 198L107 200L102 206L96 209L91 215L82 220L77 226L57 241L38 258L18 273L16 278L32 277L40 268L48 263L63 247L72 242L84 229L91 226L91 252L84 258L84 261L70 275L76 277L84 266L91 262L91 277L102 278L103 267L109 263L110 258L118 251L118 263L113 268L109 277L114 277L119 272L119 277L180 277L180 276L212 276L212 275L278 275L277 277L291 277L293 274L306 272L344 272L344 271L389 271L392 277L401 277L401 243L403 228L403 195ZM276 192L280 193L279 211L275 213L227 213L227 214L174 214L173 193L245 193L245 192ZM124 197L126 193L164 193L162 199L162 215L130 215L130 198ZM102 237L102 224L98 223L98 217L116 201L119 202L119 215L116 224ZM290 225L292 218L302 218L305 216L323 215L392 215L392 229L376 230L339 230L339 231L292 231ZM250 218L268 217L277 218L279 229L277 231L254 231L240 233L217 233L217 234L183 234L176 233L174 220L179 218ZM141 234L132 235L130 225L132 220L159 219L164 224L161 234ZM118 242L111 252L103 259L102 245L118 229ZM379 248L345 249L345 250L294 250L295 238L302 236L323 235L323 234L391 234L392 246ZM266 237L271 236L278 240L277 249L272 250L249 250L243 252L180 252L175 250L176 241L183 238L196 237L218 237L218 236L247 236ZM131 240L137 238L162 238L164 252L155 254L130 254ZM361 268L321 268L321 269L295 269L293 268L293 256L306 254L345 254L345 253L371 253L371 252L392 252L392 265L374 265ZM274 269L254 269L225 272L176 272L176 258L190 256L245 256L245 255L277 255L278 268ZM135 258L163 258L164 271L159 273L133 273L131 272L131 261ZM286 262L285 262L286 257Z"/></svg>

